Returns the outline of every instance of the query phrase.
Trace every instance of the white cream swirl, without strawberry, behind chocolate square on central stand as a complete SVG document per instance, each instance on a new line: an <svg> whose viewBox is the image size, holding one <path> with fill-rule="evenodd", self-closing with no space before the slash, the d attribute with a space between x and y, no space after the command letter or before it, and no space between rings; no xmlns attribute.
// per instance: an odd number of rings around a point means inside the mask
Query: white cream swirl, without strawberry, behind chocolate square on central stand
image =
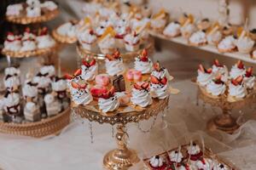
<svg viewBox="0 0 256 170"><path fill-rule="evenodd" d="M120 75L125 71L125 65L123 64L123 59L108 60L105 59L105 66L108 75Z"/></svg>

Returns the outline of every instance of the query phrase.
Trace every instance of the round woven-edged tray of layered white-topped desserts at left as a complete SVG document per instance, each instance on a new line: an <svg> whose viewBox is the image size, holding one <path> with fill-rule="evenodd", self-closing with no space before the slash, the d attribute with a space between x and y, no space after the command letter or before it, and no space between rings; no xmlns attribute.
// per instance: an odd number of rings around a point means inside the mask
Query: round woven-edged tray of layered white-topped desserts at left
<svg viewBox="0 0 256 170"><path fill-rule="evenodd" d="M67 82L55 76L53 65L42 66L34 77L20 82L20 69L7 67L1 95L1 133L42 137L58 133L69 122Z"/></svg>

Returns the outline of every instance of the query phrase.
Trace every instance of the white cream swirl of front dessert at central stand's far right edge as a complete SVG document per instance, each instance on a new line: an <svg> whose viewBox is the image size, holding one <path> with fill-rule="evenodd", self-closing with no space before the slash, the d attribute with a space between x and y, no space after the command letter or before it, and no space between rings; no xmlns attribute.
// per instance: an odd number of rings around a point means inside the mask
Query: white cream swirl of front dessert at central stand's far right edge
<svg viewBox="0 0 256 170"><path fill-rule="evenodd" d="M153 98L166 99L170 94L168 83L166 85L150 83L150 94Z"/></svg>

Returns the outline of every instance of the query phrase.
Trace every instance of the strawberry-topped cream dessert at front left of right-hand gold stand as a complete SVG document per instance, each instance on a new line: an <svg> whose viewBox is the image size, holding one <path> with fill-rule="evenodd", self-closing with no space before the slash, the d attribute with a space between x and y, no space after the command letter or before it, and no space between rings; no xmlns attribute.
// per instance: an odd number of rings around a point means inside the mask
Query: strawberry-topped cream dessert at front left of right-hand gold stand
<svg viewBox="0 0 256 170"><path fill-rule="evenodd" d="M210 83L207 84L207 93L212 94L213 96L219 96L225 93L226 86L221 80L221 75L212 79Z"/></svg>

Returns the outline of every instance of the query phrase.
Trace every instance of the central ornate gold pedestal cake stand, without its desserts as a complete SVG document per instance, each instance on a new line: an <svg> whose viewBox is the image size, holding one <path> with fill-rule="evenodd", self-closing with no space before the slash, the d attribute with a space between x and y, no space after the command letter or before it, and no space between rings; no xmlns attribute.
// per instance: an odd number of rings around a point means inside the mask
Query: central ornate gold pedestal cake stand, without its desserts
<svg viewBox="0 0 256 170"><path fill-rule="evenodd" d="M117 111L103 114L99 110L90 109L86 106L74 106L73 111L81 118L88 119L90 122L117 124L116 141L118 148L111 150L104 156L103 166L111 170L126 170L139 161L137 152L127 148L125 142L125 126L129 122L140 122L148 120L152 116L157 116L163 111L169 102L166 99L153 99L153 104L146 108L136 107L136 111L125 111L125 107L119 107Z"/></svg>

